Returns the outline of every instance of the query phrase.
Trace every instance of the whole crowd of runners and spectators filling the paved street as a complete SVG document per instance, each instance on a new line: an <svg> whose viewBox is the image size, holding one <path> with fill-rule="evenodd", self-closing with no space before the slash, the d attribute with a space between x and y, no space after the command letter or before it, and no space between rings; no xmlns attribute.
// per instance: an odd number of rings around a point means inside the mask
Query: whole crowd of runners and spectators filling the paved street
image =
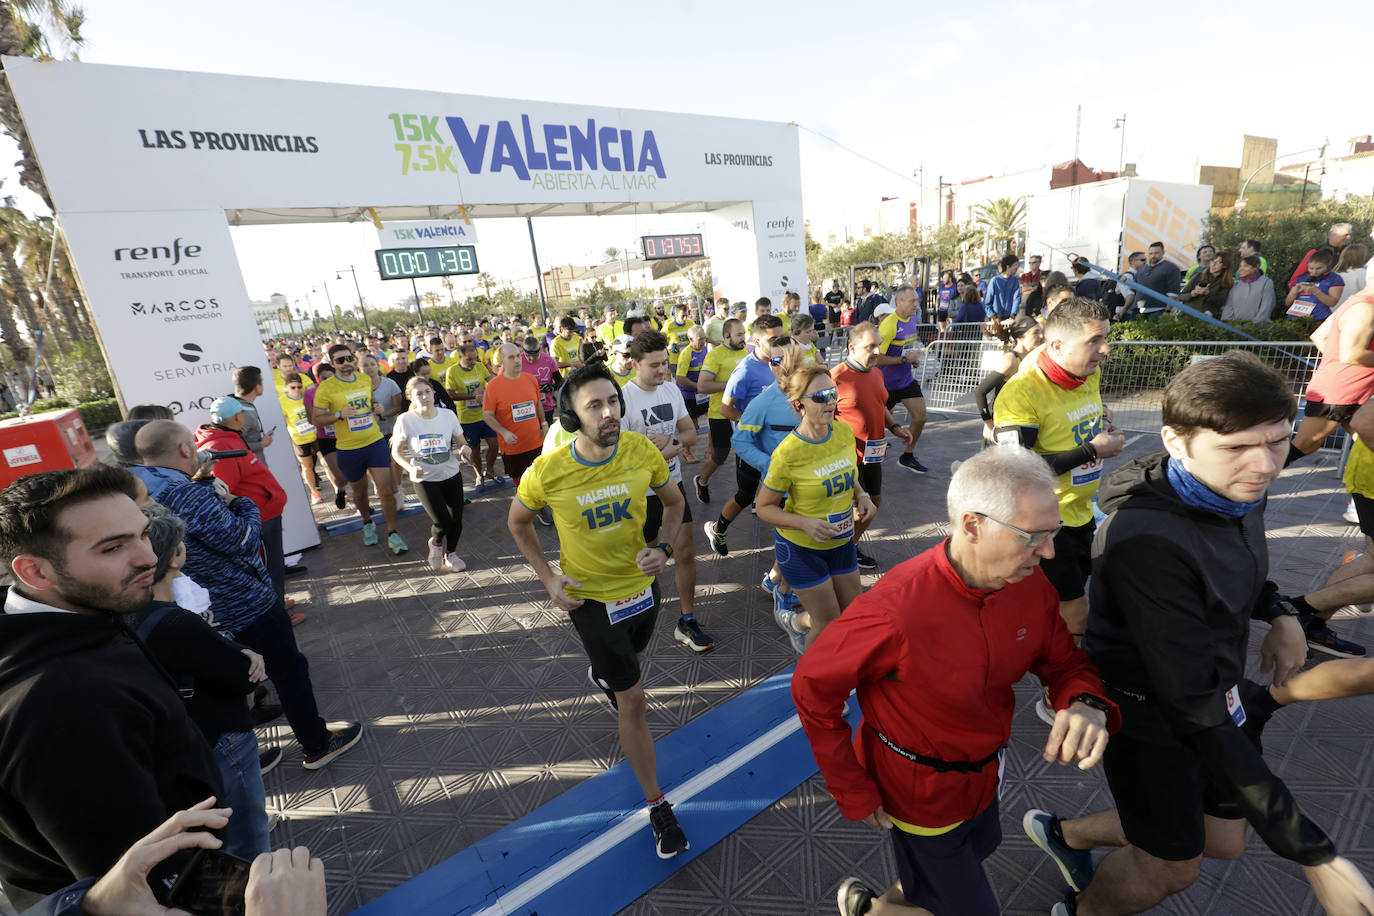
<svg viewBox="0 0 1374 916"><path fill-rule="evenodd" d="M1253 247L1246 262L1263 264ZM1348 232L1347 247L1358 247ZM1243 282L1221 254L1200 251L1184 275L1151 246L1135 279L1206 299ZM284 595L278 475L300 474L312 503L352 507L363 544L397 558L409 552L398 518L414 493L430 522L419 562L434 575L467 569L464 505L514 488L513 544L585 648L588 689L617 717L662 858L690 849L691 823L658 781L643 654L665 606L683 651L716 648L698 617L695 558L727 556L731 526L752 511L772 529L758 585L798 656L791 692L826 787L845 817L886 832L896 860L888 889L846 879L841 913L999 912L982 860L1002 839L1013 685L1028 673L1043 688L1044 759L1101 764L1114 801L1088 814L1024 812L1068 884L1046 901L1052 913L1149 909L1187 889L1204 857L1238 857L1246 823L1304 869L1329 912L1374 913L1374 890L1261 743L1286 705L1374 691L1364 648L1329 626L1369 612L1374 541L1322 589L1286 596L1270 581L1264 533L1279 472L1344 428L1360 437L1344 477L1374 536L1374 291L1331 293L1341 257L1318 246L1290 284L1290 305L1325 319L1305 390L1256 356L1200 361L1164 391L1160 448L1132 461L1120 460L1099 367L1114 320L1165 306L1087 269L1076 284L1036 262L1021 273L1015 255L985 290L943 276L929 304L911 286L867 286L851 301L835 284L807 308L789 293L776 309L721 298L273 342L271 378L236 369L210 423L191 430L165 408L135 408L109 430L122 468L37 474L0 493L14 582L0 614L0 882L15 902L49 908L34 912L66 912L51 908L81 894L99 904L131 880L162 901L150 847L165 857L223 843L257 860L260 887L276 862L278 884L306 901L256 912L315 912L317 860L269 853L261 773L282 751L260 754L253 736L284 714L312 769L363 737L361 722L326 726L291 630L304 615ZM866 591L860 570L878 566L868 531L885 499L900 499L885 468L936 477L918 457L918 368L929 323L960 317L984 320L989 342L974 391L982 448L951 468L949 536ZM275 431L256 401L273 390L290 471L264 455ZM889 446L900 446L890 461ZM731 464L721 500L713 483ZM537 525L552 527L556 556ZM1246 676L1252 621L1267 630L1260 680ZM1304 670L1309 650L1338 659ZM113 699L100 709L70 702L102 691ZM863 714L853 735L852 702ZM113 764L82 762L92 735L118 747ZM95 766L106 772L91 779ZM111 788L96 798L73 786ZM195 827L216 828L213 843ZM1098 847L1109 851L1095 861Z"/></svg>

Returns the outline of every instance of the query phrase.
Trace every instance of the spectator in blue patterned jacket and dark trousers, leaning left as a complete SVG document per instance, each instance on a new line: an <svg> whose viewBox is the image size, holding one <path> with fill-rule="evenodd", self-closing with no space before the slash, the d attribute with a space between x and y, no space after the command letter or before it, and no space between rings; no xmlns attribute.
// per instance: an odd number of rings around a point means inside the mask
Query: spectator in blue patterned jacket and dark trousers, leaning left
<svg viewBox="0 0 1374 916"><path fill-rule="evenodd" d="M185 522L183 571L210 592L216 628L262 656L305 754L302 765L326 766L361 739L363 725L349 722L330 731L320 717L309 665L258 553L257 505L212 477L196 457L191 430L180 423L148 423L139 430L137 446L144 467L135 472L157 503Z"/></svg>

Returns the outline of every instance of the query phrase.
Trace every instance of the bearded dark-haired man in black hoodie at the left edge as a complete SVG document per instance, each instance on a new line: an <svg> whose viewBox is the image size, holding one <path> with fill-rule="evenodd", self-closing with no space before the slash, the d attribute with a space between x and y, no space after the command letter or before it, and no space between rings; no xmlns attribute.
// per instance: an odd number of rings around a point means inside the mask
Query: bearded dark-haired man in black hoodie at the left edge
<svg viewBox="0 0 1374 916"><path fill-rule="evenodd" d="M124 468L0 492L0 882L21 909L100 875L173 812L220 797L218 765L126 615L157 556Z"/></svg>

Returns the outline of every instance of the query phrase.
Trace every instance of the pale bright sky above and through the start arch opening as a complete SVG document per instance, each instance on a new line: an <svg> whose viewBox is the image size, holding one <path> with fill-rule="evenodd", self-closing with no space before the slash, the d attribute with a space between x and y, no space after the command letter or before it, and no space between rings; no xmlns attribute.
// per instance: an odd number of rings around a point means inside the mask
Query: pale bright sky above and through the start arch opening
<svg viewBox="0 0 1374 916"><path fill-rule="evenodd" d="M1374 108L1342 100L1344 85L1363 85L1360 55L1337 56L1344 36L1374 34L1370 4L1333 10L1338 30L1286 52L1293 7L1270 0L1243 16L1232 4L1098 0L85 7L89 62L797 121L899 173L802 132L805 213L818 225L910 192L903 176L918 168L933 187L941 174L962 181L1069 159L1077 104L1084 161L1116 168L1113 122L1125 114L1125 159L1175 181L1193 180L1198 162L1238 165L1242 133L1275 136L1281 152L1330 137L1338 152L1374 132ZM1326 80L1325 69L1348 76ZM607 246L633 249L640 233L691 222L540 220L540 260L594 264ZM532 272L523 221L478 229L484 268L499 279ZM326 279L338 301L354 301L335 271L356 264L361 279L374 242L357 227L235 231L250 295L302 304ZM408 291L364 283L378 304Z"/></svg>

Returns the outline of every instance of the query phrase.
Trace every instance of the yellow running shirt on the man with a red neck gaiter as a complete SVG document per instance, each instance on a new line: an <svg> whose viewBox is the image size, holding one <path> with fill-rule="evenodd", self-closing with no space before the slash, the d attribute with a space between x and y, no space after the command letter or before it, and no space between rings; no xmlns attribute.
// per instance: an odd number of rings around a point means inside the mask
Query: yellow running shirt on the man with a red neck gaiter
<svg viewBox="0 0 1374 916"><path fill-rule="evenodd" d="M1035 450L1054 455L1079 448L1102 431L1101 372L1068 391L1051 382L1039 360L1025 360L1007 379L992 408L992 426L1029 426L1039 430ZM1070 527L1092 520L1092 496L1102 477L1102 460L1088 461L1059 475L1054 494L1059 518Z"/></svg>

